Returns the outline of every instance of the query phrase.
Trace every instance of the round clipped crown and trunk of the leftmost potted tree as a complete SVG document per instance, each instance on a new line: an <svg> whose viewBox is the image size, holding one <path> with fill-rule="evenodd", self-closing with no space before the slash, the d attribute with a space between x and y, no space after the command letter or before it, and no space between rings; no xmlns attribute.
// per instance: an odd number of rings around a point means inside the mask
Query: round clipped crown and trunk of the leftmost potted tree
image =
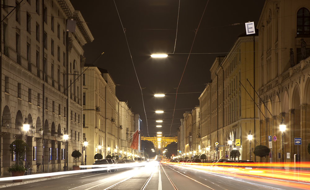
<svg viewBox="0 0 310 190"><path fill-rule="evenodd" d="M15 159L15 164L23 165L23 156L29 151L29 146L21 139L16 139L10 144L11 154L15 154L18 159Z"/></svg>

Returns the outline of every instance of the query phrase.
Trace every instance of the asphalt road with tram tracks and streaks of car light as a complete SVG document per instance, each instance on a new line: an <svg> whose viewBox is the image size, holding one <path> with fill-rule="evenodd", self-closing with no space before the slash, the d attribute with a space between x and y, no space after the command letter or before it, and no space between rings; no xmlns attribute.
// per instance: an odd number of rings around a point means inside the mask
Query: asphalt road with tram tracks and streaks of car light
<svg viewBox="0 0 310 190"><path fill-rule="evenodd" d="M160 172L159 172L160 171ZM167 175L166 175L167 174ZM171 180L171 181L170 181ZM288 180L213 173L201 169L159 164L118 169L115 172L91 173L17 185L4 190L293 190L310 189L310 183Z"/></svg>

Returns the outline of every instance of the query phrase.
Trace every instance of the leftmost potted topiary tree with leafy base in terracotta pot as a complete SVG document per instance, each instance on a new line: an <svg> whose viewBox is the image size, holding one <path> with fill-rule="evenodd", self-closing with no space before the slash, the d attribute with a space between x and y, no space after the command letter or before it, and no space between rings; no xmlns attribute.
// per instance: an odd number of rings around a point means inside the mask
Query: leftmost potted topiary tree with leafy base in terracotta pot
<svg viewBox="0 0 310 190"><path fill-rule="evenodd" d="M15 154L18 159L15 159L15 164L12 164L7 171L12 173L12 176L22 176L25 174L26 168L23 166L23 156L26 151L29 151L29 146L21 139L16 139L10 144L11 154ZM13 182L22 182L23 179L16 179Z"/></svg>

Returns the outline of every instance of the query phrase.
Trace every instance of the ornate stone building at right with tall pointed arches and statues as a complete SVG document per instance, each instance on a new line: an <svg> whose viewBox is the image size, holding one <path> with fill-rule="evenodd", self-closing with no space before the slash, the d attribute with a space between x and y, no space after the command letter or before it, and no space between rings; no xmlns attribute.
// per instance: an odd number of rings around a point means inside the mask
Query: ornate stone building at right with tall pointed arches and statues
<svg viewBox="0 0 310 190"><path fill-rule="evenodd" d="M259 105L260 141L276 136L272 161L309 161L310 142L310 2L307 0L266 1L259 18ZM279 124L286 130L281 149ZM302 138L302 145L294 145ZM282 151L281 151L282 150Z"/></svg>

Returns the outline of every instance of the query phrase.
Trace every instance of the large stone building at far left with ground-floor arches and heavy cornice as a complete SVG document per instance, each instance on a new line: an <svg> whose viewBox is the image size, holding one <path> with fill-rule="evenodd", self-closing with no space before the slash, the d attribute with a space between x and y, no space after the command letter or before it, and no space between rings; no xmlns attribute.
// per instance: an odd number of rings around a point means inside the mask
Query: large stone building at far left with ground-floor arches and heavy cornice
<svg viewBox="0 0 310 190"><path fill-rule="evenodd" d="M69 0L3 2L16 10L4 19L12 8L1 8L1 175L15 163L9 146L25 139L25 118L33 132L27 133L30 151L24 162L33 173L61 171L65 160L70 170L71 152L82 147L82 47L94 38ZM74 21L75 30L67 32L67 22L74 26Z"/></svg>

